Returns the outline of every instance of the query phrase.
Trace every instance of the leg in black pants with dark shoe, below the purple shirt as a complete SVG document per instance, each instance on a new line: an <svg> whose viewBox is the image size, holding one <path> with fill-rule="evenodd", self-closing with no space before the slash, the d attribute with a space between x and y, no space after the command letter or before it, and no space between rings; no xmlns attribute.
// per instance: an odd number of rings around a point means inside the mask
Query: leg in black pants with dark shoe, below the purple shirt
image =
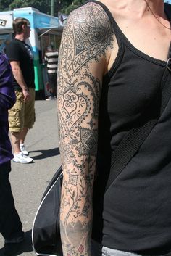
<svg viewBox="0 0 171 256"><path fill-rule="evenodd" d="M22 223L14 206L9 172L11 162L0 165L0 233L4 236L4 255L12 256L18 252L24 240Z"/></svg>

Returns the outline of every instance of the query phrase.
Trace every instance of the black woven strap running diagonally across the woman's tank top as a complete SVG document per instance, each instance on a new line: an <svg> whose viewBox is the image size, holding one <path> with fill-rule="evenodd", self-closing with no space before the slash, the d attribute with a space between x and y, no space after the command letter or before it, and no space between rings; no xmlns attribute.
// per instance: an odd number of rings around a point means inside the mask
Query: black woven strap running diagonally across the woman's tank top
<svg viewBox="0 0 171 256"><path fill-rule="evenodd" d="M145 124L130 130L117 146L117 149L115 149L112 153L111 168L106 191L109 189L109 186L112 184L114 179L117 178L117 176L121 173L123 168L125 168L128 162L130 162L131 158L143 144L143 141L145 141L147 136L149 136L149 133L154 128L154 125L156 125L157 120L162 115L164 108L167 106L171 96L171 86L167 81L169 74L170 70L166 68L161 84L162 99L161 101L158 101L158 105L159 102L161 104L158 117L151 118L151 120L148 120Z"/></svg>

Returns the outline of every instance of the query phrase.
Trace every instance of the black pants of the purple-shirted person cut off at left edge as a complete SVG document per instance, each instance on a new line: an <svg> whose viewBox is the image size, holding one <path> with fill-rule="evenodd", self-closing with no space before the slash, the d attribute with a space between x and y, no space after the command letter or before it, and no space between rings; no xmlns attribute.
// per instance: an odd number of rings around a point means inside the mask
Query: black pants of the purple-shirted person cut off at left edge
<svg viewBox="0 0 171 256"><path fill-rule="evenodd" d="M0 164L0 233L10 240L22 236L22 223L14 206L9 172L11 162Z"/></svg>

